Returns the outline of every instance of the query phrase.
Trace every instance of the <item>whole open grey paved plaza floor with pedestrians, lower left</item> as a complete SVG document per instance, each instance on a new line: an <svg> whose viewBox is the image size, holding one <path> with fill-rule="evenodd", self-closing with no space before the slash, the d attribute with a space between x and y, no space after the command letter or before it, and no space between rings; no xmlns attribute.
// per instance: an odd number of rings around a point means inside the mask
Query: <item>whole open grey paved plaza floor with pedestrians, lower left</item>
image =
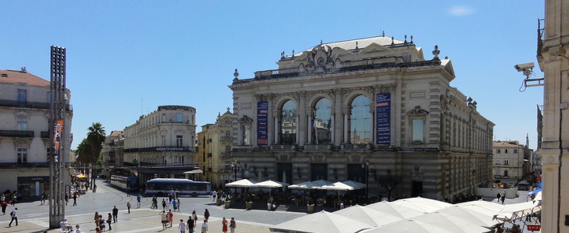
<svg viewBox="0 0 569 233"><path fill-rule="evenodd" d="M69 203L65 207L65 215L68 218L68 222L74 226L79 224L81 230L85 232L94 232L93 215L95 211L98 211L106 219L113 206L117 206L119 209L119 220L118 223L113 224L112 232L129 233L179 232L177 223L180 222L180 219L186 221L193 210L196 210L200 224L203 222L204 210L209 210L211 214L209 218L209 232L221 232L221 218L223 217L236 219L236 232L269 232L269 226L273 224L306 215L306 213L286 211L225 210L222 206L216 206L215 202L210 201L209 197L183 197L180 198L181 213L174 213L174 226L166 231L162 231L159 215L162 207L159 210L150 210L151 198L143 198L141 209L136 209L136 195L127 197L121 190L114 189L102 181L97 181L97 187L96 193L89 192L81 195L77 199L77 206L73 206L73 199L69 199ZM133 206L130 214L126 210L126 201L130 201ZM160 201L162 200L159 199ZM40 206L39 204L39 201L16 204L15 207L18 207L19 224L15 226L15 223L13 223L10 228L7 227L10 222L9 213L14 207L9 206L6 210L6 215L0 215L0 232L42 232L46 230L49 225L48 207ZM59 230L51 230L49 232L59 232Z"/></svg>

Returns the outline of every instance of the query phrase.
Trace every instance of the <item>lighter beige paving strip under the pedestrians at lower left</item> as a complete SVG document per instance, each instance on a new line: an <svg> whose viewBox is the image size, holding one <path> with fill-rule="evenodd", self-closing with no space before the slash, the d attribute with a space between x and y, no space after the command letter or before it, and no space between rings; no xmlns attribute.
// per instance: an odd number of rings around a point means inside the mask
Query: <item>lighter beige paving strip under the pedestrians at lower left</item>
<svg viewBox="0 0 569 233"><path fill-rule="evenodd" d="M184 222L188 220L188 214L174 213L173 226L162 230L162 223L160 223L160 211L149 210L149 209L135 209L131 210L130 214L127 211L119 211L117 223L113 223L113 233L138 233L138 232L180 232L178 231L178 224L180 219ZM100 215L107 216L108 213L99 213ZM84 232L94 232L95 223L93 221L93 214L81 214L81 215L71 215L68 216L68 222L73 226L79 224L81 231ZM106 218L105 218L106 219ZM229 220L229 219L228 219ZM201 226L203 223L203 217L198 216L197 221ZM267 233L269 231L269 225L261 223L243 222L236 219L237 228L235 232L253 232L253 233ZM18 226L12 223L12 227L7 227L9 222L0 222L0 232L43 232L47 230L49 226L48 218L36 218L27 219L19 222ZM107 226L106 230L109 230ZM199 227L196 227L199 232ZM58 229L53 229L48 231L50 233L59 232ZM221 232L221 219L220 218L209 218L209 231L208 232Z"/></svg>

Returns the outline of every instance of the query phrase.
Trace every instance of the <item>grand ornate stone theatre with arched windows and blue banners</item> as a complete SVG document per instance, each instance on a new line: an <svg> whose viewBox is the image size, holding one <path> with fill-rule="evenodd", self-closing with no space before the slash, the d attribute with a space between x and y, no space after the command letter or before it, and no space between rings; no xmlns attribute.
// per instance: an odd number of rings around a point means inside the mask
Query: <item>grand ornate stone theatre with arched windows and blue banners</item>
<svg viewBox="0 0 569 233"><path fill-rule="evenodd" d="M385 35L320 43L233 90L233 157L241 176L296 183L381 183L393 194L452 199L492 179L494 124L450 86L451 60L425 60ZM264 172L255 172L264 171ZM266 177L258 177L266 174ZM387 177L387 178L386 178Z"/></svg>

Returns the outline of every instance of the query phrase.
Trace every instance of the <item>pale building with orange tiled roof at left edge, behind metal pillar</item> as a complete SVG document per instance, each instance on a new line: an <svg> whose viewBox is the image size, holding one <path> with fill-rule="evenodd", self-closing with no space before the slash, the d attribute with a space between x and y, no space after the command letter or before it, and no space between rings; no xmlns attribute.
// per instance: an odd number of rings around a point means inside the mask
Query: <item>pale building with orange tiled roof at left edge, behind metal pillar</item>
<svg viewBox="0 0 569 233"><path fill-rule="evenodd" d="M71 91L65 90L68 103ZM50 81L22 70L0 70L0 190L36 197L50 188ZM73 108L66 106L64 150L69 156ZM65 159L69 161L69 159ZM68 166L67 166L68 167ZM69 177L65 179L69 184Z"/></svg>

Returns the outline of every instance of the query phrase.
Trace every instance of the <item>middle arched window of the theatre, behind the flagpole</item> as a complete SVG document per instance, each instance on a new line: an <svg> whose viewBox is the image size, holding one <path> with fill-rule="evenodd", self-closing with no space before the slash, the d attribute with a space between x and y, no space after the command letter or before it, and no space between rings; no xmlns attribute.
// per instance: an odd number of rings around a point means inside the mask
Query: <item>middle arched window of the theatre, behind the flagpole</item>
<svg viewBox="0 0 569 233"><path fill-rule="evenodd" d="M332 142L331 106L332 104L327 98L321 98L316 102L314 122L312 122L312 142L314 144L330 144Z"/></svg>

